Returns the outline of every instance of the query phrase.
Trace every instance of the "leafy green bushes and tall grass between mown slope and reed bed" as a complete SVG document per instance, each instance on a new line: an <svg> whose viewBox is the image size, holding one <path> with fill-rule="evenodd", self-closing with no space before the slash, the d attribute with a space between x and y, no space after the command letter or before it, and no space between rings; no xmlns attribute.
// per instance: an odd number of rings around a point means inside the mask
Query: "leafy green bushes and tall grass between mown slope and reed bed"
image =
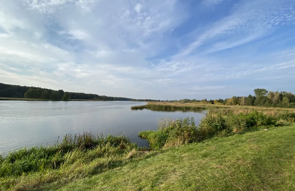
<svg viewBox="0 0 295 191"><path fill-rule="evenodd" d="M169 126L159 128L157 131L143 131L139 133L141 138L148 140L150 148L160 149L163 147L180 145L184 143L199 142L216 135L233 135L243 130L258 126L279 126L283 123L294 122L295 113L282 113L280 115L266 115L258 111L251 113L206 113L200 120L198 128L194 118L169 120ZM160 119L160 124L163 119Z"/></svg>

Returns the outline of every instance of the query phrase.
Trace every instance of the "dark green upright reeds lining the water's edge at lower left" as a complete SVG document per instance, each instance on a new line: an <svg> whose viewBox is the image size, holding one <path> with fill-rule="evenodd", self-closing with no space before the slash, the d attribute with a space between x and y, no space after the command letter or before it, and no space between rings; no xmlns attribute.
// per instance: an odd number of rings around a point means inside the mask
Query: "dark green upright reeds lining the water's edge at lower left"
<svg viewBox="0 0 295 191"><path fill-rule="evenodd" d="M92 133L65 135L62 142L50 146L23 148L0 159L0 177L20 176L32 172L58 169L77 161L91 162L95 158L120 155L138 149L123 136L95 136Z"/></svg>

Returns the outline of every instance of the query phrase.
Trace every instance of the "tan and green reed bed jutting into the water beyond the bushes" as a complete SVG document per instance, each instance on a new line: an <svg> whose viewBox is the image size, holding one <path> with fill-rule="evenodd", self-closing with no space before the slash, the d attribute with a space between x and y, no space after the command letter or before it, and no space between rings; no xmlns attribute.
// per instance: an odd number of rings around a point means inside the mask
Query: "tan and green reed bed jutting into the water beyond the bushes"
<svg viewBox="0 0 295 191"><path fill-rule="evenodd" d="M194 104L194 103L166 103L166 102L149 102L147 105L132 106L132 110L151 109L151 110L188 110L188 111L203 111L208 110L212 114L222 113L251 113L253 111L263 112L266 115L278 115L281 113L295 113L294 108L273 108L273 107L258 107L258 106L242 106L242 105L213 105L213 104Z"/></svg>

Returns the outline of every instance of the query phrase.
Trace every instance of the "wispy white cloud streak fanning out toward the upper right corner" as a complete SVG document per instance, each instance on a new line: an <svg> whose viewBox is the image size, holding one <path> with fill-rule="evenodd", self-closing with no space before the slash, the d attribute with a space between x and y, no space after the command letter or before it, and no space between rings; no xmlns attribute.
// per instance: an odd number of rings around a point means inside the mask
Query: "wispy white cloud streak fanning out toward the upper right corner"
<svg viewBox="0 0 295 191"><path fill-rule="evenodd" d="M219 3L219 1L214 0L204 2ZM291 23L288 19L295 16L295 14L288 11L288 9L289 5L280 1L242 1L235 6L232 14L206 27L207 29L203 33L197 34L194 37L196 40L183 48L177 56L187 56L200 48L200 46L212 44L212 42L219 44L231 43L228 47L232 48L261 38L268 34L269 29L277 25ZM276 12L277 10L278 12Z"/></svg>

